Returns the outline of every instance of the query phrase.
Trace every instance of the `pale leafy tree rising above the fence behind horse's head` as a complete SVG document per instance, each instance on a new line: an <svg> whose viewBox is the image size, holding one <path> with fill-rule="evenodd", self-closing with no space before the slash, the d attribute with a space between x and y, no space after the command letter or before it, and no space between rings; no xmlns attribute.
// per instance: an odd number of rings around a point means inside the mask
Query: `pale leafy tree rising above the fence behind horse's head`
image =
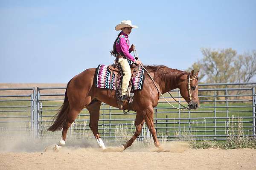
<svg viewBox="0 0 256 170"><path fill-rule="evenodd" d="M238 55L232 48L201 48L203 59L188 70L199 71L200 82L250 82L256 75L256 51Z"/></svg>

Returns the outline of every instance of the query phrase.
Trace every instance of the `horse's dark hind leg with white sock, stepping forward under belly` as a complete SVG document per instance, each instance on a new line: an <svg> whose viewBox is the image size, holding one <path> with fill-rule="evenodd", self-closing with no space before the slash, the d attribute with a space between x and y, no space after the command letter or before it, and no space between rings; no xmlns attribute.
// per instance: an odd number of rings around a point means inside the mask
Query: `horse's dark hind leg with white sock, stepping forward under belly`
<svg viewBox="0 0 256 170"><path fill-rule="evenodd" d="M106 149L104 142L100 138L99 131L98 131L98 122L99 122L99 109L101 106L101 101L97 99L93 99L93 101L86 106L90 113L90 129L93 131L93 135L95 136L96 141L99 144L99 147L102 149Z"/></svg>

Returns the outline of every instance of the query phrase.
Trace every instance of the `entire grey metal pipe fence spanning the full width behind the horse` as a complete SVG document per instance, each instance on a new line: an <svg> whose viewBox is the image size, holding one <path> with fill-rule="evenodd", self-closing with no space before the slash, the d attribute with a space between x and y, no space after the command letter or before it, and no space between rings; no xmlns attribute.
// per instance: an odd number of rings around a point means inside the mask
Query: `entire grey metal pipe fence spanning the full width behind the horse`
<svg viewBox="0 0 256 170"><path fill-rule="evenodd" d="M154 108L154 123L158 137L166 140L226 140L228 136L237 135L255 138L256 82L199 84L198 86L200 86L198 110L178 111L160 97L157 107ZM64 101L65 89L60 87L0 89L0 91L31 91L30 94L0 96L0 136L15 130L23 131L24 126L32 136L58 136L59 138L61 133L50 133L47 128ZM178 89L171 93L176 100L186 104ZM181 107L167 94L164 96L176 107ZM87 109L83 109L70 127L68 135L81 138L93 137L89 128L89 116ZM131 136L135 130L135 116L136 113L133 111L124 115L117 108L102 103L99 133L105 139ZM15 128L15 124L18 124L18 127ZM238 129L241 126L242 129ZM139 140L148 137L150 133L144 124Z"/></svg>

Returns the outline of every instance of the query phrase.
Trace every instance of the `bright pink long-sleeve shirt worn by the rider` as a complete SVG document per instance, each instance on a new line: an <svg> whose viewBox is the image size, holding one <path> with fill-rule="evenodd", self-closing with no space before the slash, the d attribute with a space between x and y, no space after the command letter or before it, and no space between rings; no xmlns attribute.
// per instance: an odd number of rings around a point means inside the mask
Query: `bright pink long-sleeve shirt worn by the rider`
<svg viewBox="0 0 256 170"><path fill-rule="evenodd" d="M131 61L135 61L134 57L129 52L130 42L128 39L128 35L121 32L120 36L118 37L116 41L116 51L122 52L127 59L130 59Z"/></svg>

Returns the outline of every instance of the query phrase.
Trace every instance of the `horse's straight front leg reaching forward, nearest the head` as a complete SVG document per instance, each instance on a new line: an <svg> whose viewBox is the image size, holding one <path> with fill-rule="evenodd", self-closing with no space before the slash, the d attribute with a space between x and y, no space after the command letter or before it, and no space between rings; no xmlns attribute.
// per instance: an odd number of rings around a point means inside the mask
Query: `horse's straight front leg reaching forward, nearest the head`
<svg viewBox="0 0 256 170"><path fill-rule="evenodd" d="M154 109L152 106L145 108L145 110L143 111L143 117L145 119L146 125L148 126L148 130L153 137L154 145L156 147L159 147L160 144L158 142L156 129L154 127Z"/></svg>

